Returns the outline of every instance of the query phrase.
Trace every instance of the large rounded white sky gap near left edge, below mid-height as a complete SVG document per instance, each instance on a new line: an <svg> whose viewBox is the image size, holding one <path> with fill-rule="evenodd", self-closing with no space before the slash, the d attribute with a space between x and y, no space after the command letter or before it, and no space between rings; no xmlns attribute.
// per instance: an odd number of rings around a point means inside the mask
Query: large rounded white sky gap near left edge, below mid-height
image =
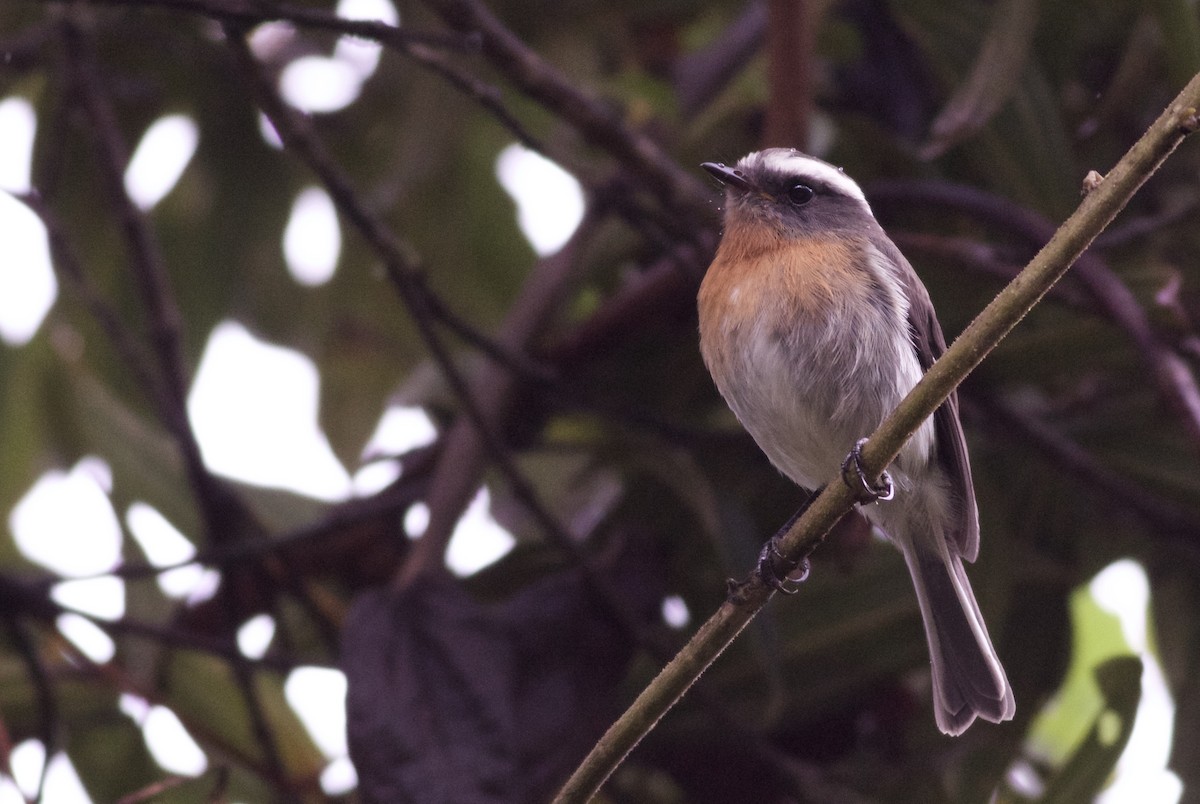
<svg viewBox="0 0 1200 804"><path fill-rule="evenodd" d="M104 485L107 464L83 458L71 472L46 472L8 516L18 550L67 577L97 575L121 558L121 527Z"/></svg>

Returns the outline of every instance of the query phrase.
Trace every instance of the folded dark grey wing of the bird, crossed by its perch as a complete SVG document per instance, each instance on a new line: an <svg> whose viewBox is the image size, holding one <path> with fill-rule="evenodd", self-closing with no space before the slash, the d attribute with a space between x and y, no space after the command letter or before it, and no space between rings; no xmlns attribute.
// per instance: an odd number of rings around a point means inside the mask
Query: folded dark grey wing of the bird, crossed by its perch
<svg viewBox="0 0 1200 804"><path fill-rule="evenodd" d="M888 242L892 245L890 240ZM901 266L900 277L908 296L908 329L912 332L912 344L917 350L922 371L929 371L934 361L946 352L946 337L942 335L941 324L937 323L934 302L929 300L925 286L895 245L892 245L892 251L889 257ZM942 407L934 413L934 432L937 436L937 462L950 479L955 497L960 500L958 527L953 534L947 535L958 547L959 556L973 562L979 554L979 511L976 506L974 484L971 481L967 443L962 434L962 422L959 420L958 391L950 394Z"/></svg>

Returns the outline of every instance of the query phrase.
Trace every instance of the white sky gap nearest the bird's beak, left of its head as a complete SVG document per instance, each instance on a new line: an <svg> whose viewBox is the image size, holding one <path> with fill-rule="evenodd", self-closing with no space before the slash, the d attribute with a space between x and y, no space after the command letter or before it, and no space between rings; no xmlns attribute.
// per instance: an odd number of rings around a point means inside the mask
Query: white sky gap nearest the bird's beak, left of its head
<svg viewBox="0 0 1200 804"><path fill-rule="evenodd" d="M583 220L583 191L575 176L514 143L496 160L496 176L517 205L517 224L533 250L551 254Z"/></svg>

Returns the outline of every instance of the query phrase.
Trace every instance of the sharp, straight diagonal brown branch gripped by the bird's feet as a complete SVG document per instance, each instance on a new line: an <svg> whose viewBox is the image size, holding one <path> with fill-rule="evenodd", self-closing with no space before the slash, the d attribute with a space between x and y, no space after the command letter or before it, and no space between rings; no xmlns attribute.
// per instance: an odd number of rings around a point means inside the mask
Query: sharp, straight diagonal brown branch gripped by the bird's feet
<svg viewBox="0 0 1200 804"><path fill-rule="evenodd" d="M1058 281L1088 244L1112 221L1142 182L1183 138L1200 128L1200 74L1163 112L1100 185L1055 232L1026 269L967 326L917 386L884 419L863 445L866 474L878 476L905 442L954 391L959 383L1025 317ZM809 509L780 540L786 560L800 559L854 505L854 496L840 478L833 478ZM700 674L725 650L773 596L756 574L713 614L634 704L596 743L556 802L586 802L664 714L688 691Z"/></svg>

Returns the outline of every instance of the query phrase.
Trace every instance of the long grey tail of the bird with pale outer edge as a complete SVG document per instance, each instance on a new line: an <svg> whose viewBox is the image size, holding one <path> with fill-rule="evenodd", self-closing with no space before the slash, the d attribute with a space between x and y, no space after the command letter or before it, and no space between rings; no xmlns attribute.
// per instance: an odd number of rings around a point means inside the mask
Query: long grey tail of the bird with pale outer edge
<svg viewBox="0 0 1200 804"><path fill-rule="evenodd" d="M976 604L962 559L944 542L938 552L902 548L912 574L934 666L934 714L947 734L961 734L974 719L994 724L1016 710L1013 689Z"/></svg>

